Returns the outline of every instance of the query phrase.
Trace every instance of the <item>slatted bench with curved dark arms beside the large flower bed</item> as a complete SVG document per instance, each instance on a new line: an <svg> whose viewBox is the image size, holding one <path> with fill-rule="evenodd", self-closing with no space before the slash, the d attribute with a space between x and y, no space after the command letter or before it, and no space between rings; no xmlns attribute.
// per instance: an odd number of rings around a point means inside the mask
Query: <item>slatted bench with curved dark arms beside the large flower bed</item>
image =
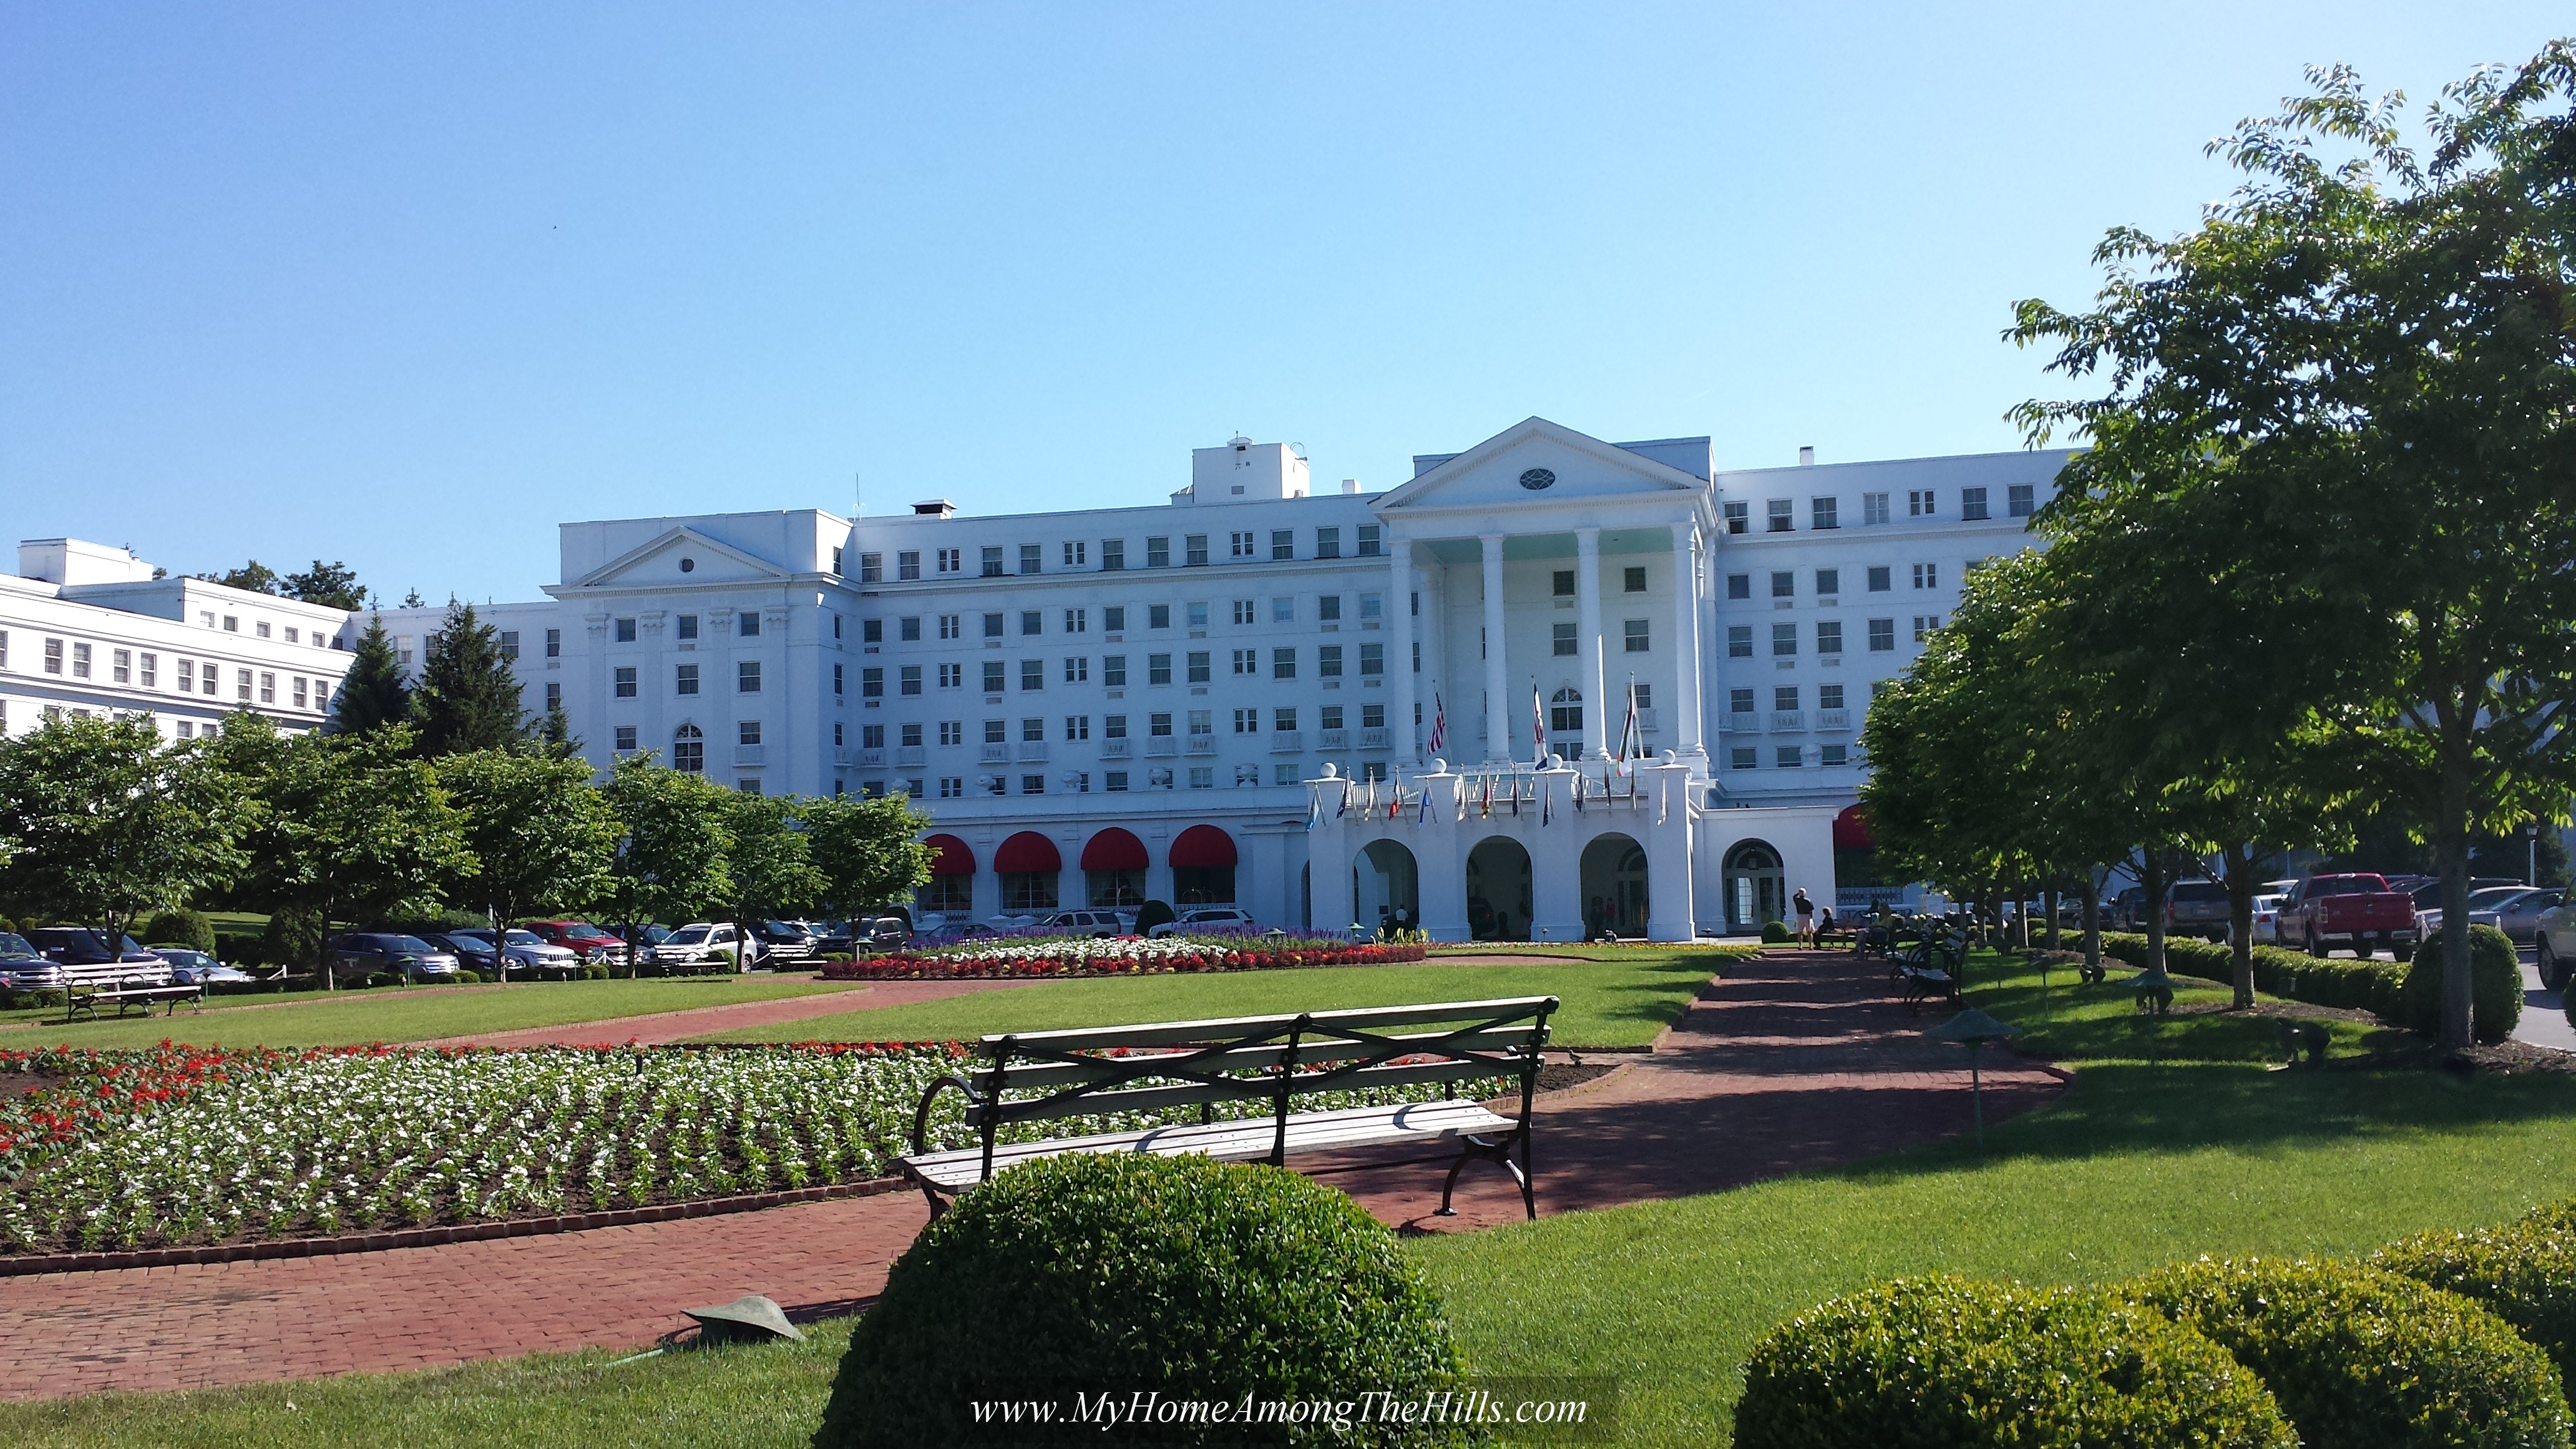
<svg viewBox="0 0 2576 1449"><path fill-rule="evenodd" d="M1458 1173L1484 1160L1520 1181L1520 1204L1538 1220L1530 1096L1538 1091L1553 1011L1553 995L1522 995L984 1036L976 1047L979 1065L943 1075L922 1093L912 1114L912 1155L899 1158L896 1168L922 1189L938 1217L951 1196L997 1171L1064 1152L1200 1152L1226 1163L1285 1165L1293 1152L1455 1142L1458 1160L1440 1189L1440 1217L1455 1217L1450 1194ZM1298 1098L1316 1093L1422 1083L1455 1091L1479 1078L1520 1078L1520 1116L1497 1116L1455 1098L1293 1109ZM966 1096L966 1124L979 1145L933 1152L930 1104L948 1088ZM1218 1122L1216 1106L1234 1101L1267 1101L1270 1111ZM997 1140L1002 1127L1020 1122L1172 1106L1195 1106L1198 1122L1041 1142Z"/></svg>

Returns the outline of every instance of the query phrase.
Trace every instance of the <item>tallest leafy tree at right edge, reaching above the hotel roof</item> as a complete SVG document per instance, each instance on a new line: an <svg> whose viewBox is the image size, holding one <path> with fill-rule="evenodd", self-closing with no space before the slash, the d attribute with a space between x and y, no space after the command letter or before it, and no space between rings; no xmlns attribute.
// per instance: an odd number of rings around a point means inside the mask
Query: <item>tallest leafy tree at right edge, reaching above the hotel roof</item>
<svg viewBox="0 0 2576 1449"><path fill-rule="evenodd" d="M2022 420L2133 438L2076 485L2190 449L2244 477L2226 523L2342 624L2295 637L2334 655L2321 745L2434 848L2442 1039L2465 1047L2470 841L2563 820L2576 781L2576 46L2445 88L2429 157L2401 98L2311 80L2213 144L2249 180L2197 229L2102 242L2092 312L2022 304L2017 338L2110 384Z"/></svg>

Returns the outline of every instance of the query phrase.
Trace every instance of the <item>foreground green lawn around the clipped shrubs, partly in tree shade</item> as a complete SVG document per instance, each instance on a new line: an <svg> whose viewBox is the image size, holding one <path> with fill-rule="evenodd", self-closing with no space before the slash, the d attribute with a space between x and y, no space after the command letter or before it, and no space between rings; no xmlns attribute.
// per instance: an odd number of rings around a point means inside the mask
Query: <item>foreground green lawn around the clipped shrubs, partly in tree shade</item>
<svg viewBox="0 0 2576 1449"><path fill-rule="evenodd" d="M2267 1021L2177 1016L2148 1039L2128 1024L2117 982L2071 990L2058 972L2043 995L2038 977L1989 980L1973 993L1981 1006L2081 1067L2056 1106L1991 1127L1984 1152L1935 1145L1726 1194L1417 1240L1468 1359L1494 1374L1613 1374L1623 1441L1721 1444L1744 1351L1783 1315L1883 1276L2107 1281L2195 1253L2362 1253L2576 1194L2576 1078L2267 1073ZM994 1000L1007 995L1018 993ZM2200 998L2187 987L2184 1000ZM2362 1039L2339 1029L2336 1052ZM837 1346L840 1333L824 1330L801 1348L621 1369L605 1366L608 1354L538 1356L0 1405L0 1441L801 1444Z"/></svg>

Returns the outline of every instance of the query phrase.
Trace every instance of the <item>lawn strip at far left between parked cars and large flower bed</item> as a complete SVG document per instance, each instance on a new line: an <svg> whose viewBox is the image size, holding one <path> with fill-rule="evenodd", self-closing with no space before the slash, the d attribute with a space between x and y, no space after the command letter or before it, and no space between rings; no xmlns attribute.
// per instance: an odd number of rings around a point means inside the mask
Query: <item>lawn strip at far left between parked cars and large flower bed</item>
<svg viewBox="0 0 2576 1449"><path fill-rule="evenodd" d="M299 995L224 995L206 1003L204 1016L180 1008L178 1016L129 1016L124 1021L80 1021L72 1026L0 1029L0 1049L33 1047L149 1047L160 1039L222 1047L348 1047L366 1042L428 1042L469 1031L513 1031L520 1026L567 1026L613 1016L685 1011L732 1000L773 1000L850 990L814 977L654 977L608 982L510 982L464 987L374 987ZM258 1006L258 1011L250 1011ZM219 1011L222 1008L222 1011ZM62 1008L13 1013L18 1018L62 1021Z"/></svg>

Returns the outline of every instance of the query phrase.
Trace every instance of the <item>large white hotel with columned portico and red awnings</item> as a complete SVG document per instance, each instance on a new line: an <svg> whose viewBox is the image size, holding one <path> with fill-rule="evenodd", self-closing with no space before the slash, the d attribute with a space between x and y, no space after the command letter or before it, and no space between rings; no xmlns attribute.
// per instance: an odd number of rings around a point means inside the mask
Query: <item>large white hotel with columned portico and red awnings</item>
<svg viewBox="0 0 2576 1449"><path fill-rule="evenodd" d="M930 908L1680 938L1834 900L1870 688L2063 456L1713 472L1530 418L1363 495L1236 438L1141 508L564 523L549 598L484 614L603 768L909 792ZM417 657L440 616L384 619Z"/></svg>

